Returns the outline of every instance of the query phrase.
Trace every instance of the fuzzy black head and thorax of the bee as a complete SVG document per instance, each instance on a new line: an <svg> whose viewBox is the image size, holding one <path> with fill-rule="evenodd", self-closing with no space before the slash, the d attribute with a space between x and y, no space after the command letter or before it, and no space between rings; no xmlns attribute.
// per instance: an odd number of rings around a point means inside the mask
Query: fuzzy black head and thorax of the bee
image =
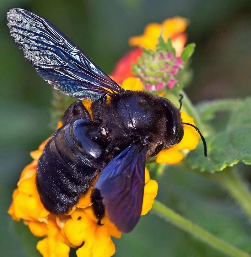
<svg viewBox="0 0 251 257"><path fill-rule="evenodd" d="M181 141L179 110L167 99L143 91L125 90L109 104L106 126L111 140L147 144L147 156Z"/></svg>

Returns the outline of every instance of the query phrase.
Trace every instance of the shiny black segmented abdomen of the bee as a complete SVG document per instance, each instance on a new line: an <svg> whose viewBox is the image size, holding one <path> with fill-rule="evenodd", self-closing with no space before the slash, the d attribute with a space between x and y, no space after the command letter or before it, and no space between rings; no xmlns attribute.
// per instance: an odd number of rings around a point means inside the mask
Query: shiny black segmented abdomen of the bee
<svg viewBox="0 0 251 257"><path fill-rule="evenodd" d="M103 135L96 124L79 119L58 129L38 161L36 183L45 208L66 213L86 193L105 165Z"/></svg>

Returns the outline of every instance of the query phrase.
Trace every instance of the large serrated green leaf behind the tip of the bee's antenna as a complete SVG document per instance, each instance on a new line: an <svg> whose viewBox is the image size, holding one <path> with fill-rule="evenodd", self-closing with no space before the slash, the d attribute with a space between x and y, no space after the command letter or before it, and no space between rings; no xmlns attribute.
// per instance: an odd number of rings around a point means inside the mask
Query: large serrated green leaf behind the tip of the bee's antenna
<svg viewBox="0 0 251 257"><path fill-rule="evenodd" d="M229 106L234 100L229 101L229 105L224 103L230 110ZM223 102L222 102L223 103ZM238 104L237 104L238 103ZM212 104L214 110L217 110L215 103ZM212 117L213 111L207 108L207 115ZM191 168L200 171L215 172L225 169L227 166L233 166L242 161L245 164L251 164L251 98L237 100L232 106L232 112L227 122L225 130L214 133L212 132L207 138L208 157L203 156L203 146L199 146L191 151L188 160Z"/></svg>

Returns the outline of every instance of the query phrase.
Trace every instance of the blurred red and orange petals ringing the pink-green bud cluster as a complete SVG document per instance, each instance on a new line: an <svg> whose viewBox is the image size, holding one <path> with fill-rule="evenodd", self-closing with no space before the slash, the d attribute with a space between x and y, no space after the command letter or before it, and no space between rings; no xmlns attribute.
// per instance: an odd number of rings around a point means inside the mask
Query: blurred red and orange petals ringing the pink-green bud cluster
<svg viewBox="0 0 251 257"><path fill-rule="evenodd" d="M144 34L140 36L131 37L129 39L130 46L136 46L126 53L115 65L113 72L111 73L113 79L117 83L122 83L124 79L133 77L131 71L131 64L137 63L138 57L142 55L142 49L156 49L158 43L158 37L163 30L163 38L165 41L168 38L172 39L172 45L176 50L176 55L180 56L187 41L187 35L184 33L188 25L188 19L182 17L174 17L166 19L162 24L150 23L146 26Z"/></svg>

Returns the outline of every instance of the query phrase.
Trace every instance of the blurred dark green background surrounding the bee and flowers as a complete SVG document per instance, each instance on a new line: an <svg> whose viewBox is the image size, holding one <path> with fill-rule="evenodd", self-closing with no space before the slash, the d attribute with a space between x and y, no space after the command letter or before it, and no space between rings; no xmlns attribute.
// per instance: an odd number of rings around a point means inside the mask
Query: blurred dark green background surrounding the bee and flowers
<svg viewBox="0 0 251 257"><path fill-rule="evenodd" d="M0 0L0 255L40 256L22 222L7 214L11 195L29 152L52 133L52 89L24 60L6 25L10 8L45 17L109 73L129 50L127 40L150 22L176 15L190 19L189 42L196 43L194 78L186 92L196 103L205 99L251 95L250 0ZM243 165L238 169L247 170ZM245 175L245 174L243 174ZM239 248L251 251L251 226L232 199L212 182L179 167L159 179L158 199ZM152 213L132 233L114 240L115 256L223 256ZM71 253L74 256L74 253Z"/></svg>

